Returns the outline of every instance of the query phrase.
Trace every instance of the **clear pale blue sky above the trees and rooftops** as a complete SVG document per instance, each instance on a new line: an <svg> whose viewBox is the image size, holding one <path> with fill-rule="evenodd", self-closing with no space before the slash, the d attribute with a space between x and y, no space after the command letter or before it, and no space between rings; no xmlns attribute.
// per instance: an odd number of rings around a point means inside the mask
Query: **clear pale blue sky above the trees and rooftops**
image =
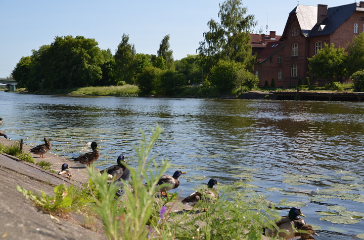
<svg viewBox="0 0 364 240"><path fill-rule="evenodd" d="M55 36L94 38L102 49L114 54L123 33L136 52L157 54L163 37L170 34L174 59L196 54L207 22L219 21L220 0L0 0L0 78L11 74L22 56L51 44ZM358 2L358 1L357 1ZM329 7L354 0L300 0L300 5ZM288 14L297 1L243 1L248 14L258 21L256 31L281 35Z"/></svg>

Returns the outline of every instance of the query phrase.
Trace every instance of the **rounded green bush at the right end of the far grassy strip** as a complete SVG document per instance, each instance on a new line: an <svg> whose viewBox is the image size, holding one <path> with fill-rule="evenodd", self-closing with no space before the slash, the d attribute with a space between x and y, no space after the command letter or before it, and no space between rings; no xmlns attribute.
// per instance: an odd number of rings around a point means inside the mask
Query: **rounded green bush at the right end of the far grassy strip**
<svg viewBox="0 0 364 240"><path fill-rule="evenodd" d="M136 84L138 84L143 94L149 94L157 89L162 72L159 68L148 66L143 69L142 73L136 76Z"/></svg>

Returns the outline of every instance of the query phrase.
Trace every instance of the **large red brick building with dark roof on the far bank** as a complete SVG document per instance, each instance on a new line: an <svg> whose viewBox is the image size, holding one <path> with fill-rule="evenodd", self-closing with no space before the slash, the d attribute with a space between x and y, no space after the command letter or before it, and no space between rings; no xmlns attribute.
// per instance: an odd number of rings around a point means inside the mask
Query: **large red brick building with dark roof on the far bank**
<svg viewBox="0 0 364 240"><path fill-rule="evenodd" d="M324 43L347 47L351 39L364 31L364 2L328 8L327 5L297 5L289 14L282 36L257 50L255 75L258 86L274 78L276 87L290 87L308 72L308 57ZM253 44L253 38L252 38ZM254 44L253 44L254 49ZM325 80L315 80L326 84ZM312 82L312 81L311 81Z"/></svg>

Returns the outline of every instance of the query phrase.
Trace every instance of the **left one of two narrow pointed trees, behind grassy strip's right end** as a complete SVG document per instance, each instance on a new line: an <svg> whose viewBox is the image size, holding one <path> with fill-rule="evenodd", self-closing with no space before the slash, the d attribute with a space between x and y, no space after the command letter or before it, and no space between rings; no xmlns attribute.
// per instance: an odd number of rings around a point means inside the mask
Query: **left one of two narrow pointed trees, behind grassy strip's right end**
<svg viewBox="0 0 364 240"><path fill-rule="evenodd" d="M135 48L129 43L129 35L125 33L115 52L115 81L134 84L135 76Z"/></svg>

